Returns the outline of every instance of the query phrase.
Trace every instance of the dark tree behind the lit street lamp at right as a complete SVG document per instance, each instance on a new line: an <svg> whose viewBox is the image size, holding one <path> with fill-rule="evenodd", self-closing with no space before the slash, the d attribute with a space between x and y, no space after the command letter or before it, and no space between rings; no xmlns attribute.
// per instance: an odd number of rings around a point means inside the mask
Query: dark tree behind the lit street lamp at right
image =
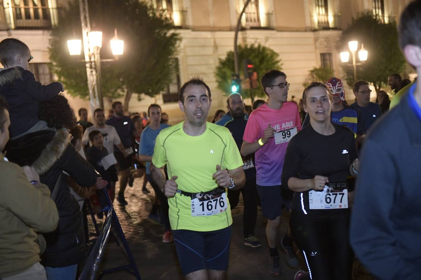
<svg viewBox="0 0 421 280"><path fill-rule="evenodd" d="M368 50L368 59L362 65L357 65L357 80L373 83L376 92L386 84L390 74L404 71L405 58L399 48L394 21L386 24L381 18L373 16L373 13L363 13L342 32L337 45L338 52L349 50L348 42L353 40L358 41L359 49L362 43ZM358 63L358 54L356 56ZM352 86L355 82L352 66L343 65L343 69L348 85Z"/></svg>

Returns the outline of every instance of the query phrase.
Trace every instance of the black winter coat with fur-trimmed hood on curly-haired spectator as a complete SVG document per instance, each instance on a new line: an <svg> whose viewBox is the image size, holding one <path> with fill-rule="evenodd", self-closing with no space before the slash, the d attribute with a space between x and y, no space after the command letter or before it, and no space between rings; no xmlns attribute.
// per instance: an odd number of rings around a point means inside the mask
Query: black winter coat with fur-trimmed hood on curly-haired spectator
<svg viewBox="0 0 421 280"><path fill-rule="evenodd" d="M43 234L47 246L41 259L47 267L67 267L85 257L83 230L79 204L70 194L68 176L81 187L89 188L96 182L95 169L70 144L66 129L42 130L13 139L6 145L6 157L18 165L30 165L40 175L40 182L51 192L58 188L54 199L59 211L59 225L53 233ZM60 177L60 174L64 176ZM59 180L60 178L60 180Z"/></svg>

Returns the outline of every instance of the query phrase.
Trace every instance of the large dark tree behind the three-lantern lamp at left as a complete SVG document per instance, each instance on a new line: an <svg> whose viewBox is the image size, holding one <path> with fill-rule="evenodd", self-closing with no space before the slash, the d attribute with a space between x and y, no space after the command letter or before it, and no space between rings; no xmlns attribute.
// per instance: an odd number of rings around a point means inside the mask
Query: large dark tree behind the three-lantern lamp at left
<svg viewBox="0 0 421 280"><path fill-rule="evenodd" d="M101 59L114 58L109 40L117 28L124 40L124 54L112 62L101 62L102 94L109 101L125 95L124 108L133 93L154 96L171 83L173 56L180 42L178 33L163 11L145 1L88 0L91 30L102 31ZM51 32L52 70L73 96L89 96L83 53L70 56L67 40L82 39L79 1L69 1L60 11L59 24ZM83 50L82 50L83 52Z"/></svg>

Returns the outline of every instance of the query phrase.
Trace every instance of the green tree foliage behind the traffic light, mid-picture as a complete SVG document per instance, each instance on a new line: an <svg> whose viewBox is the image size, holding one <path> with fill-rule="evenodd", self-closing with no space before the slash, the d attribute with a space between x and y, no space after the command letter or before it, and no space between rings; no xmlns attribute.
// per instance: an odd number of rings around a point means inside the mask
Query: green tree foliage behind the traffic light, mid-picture
<svg viewBox="0 0 421 280"><path fill-rule="evenodd" d="M253 61L254 71L257 72L257 79L260 80L264 73L271 69L281 70L281 60L279 54L274 50L264 47L261 44L253 45L239 45L238 46L238 69L240 69L240 76L242 76L242 61L250 59ZM219 58L218 66L215 71L215 78L218 84L218 89L226 95L231 93L231 75L234 73L234 51L226 53L224 59ZM241 89L241 95L244 98L250 97L250 89ZM266 96L258 86L253 89L253 96Z"/></svg>

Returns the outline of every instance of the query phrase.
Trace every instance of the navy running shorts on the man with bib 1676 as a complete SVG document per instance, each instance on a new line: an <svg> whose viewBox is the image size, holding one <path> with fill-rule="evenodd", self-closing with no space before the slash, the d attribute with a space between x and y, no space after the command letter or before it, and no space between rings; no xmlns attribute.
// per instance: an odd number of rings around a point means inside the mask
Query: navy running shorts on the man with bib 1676
<svg viewBox="0 0 421 280"><path fill-rule="evenodd" d="M184 276L198 270L227 270L232 226L221 230L173 230Z"/></svg>

